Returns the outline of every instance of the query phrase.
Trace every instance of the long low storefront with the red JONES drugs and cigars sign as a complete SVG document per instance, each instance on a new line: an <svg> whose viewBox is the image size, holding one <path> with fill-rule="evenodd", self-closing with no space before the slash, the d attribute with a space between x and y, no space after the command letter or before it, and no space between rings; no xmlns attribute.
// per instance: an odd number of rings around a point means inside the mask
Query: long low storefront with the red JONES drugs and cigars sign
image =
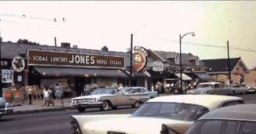
<svg viewBox="0 0 256 134"><path fill-rule="evenodd" d="M15 57L24 60L21 70L12 66ZM86 84L146 87L150 77L145 70L133 72L130 83L130 53L108 51L107 47L99 51L71 48L69 43L55 47L2 42L1 58L3 89L12 83L17 88L23 84L54 88L60 83L64 91L69 86L80 95Z"/></svg>

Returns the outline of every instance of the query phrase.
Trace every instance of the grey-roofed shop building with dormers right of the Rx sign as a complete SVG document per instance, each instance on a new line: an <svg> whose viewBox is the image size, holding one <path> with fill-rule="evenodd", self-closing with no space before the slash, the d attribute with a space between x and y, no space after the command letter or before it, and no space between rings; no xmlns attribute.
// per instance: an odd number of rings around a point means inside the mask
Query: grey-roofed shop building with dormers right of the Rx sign
<svg viewBox="0 0 256 134"><path fill-rule="evenodd" d="M148 86L152 84L176 83L180 78L179 53L166 51L148 50L150 57L146 70L150 73L151 78L148 80ZM212 78L207 74L207 66L198 56L191 53L181 54L181 66L183 70L182 79L185 83L196 81L197 83L212 81Z"/></svg>

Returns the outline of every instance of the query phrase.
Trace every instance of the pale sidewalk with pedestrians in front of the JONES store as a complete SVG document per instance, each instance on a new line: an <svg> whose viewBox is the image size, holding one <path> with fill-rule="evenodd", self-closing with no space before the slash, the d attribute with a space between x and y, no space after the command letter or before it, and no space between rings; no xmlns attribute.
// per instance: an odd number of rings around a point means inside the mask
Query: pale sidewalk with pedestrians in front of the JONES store
<svg viewBox="0 0 256 134"><path fill-rule="evenodd" d="M167 96L170 94L160 94L161 96ZM36 113L36 112L49 112L49 111L60 111L60 110L71 110L75 109L71 106L71 97L70 98L63 98L62 100L54 100L53 106L42 106L44 104L44 99L34 99L32 100L32 104L28 104L28 100L22 104L21 102L13 102L13 114L29 114L29 113ZM13 115L11 114L11 115Z"/></svg>

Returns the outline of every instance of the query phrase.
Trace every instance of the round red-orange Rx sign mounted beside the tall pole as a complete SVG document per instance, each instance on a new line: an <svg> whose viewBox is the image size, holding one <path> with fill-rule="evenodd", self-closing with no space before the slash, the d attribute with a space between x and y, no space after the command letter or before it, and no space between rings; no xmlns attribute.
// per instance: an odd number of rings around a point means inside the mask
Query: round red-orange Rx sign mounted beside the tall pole
<svg viewBox="0 0 256 134"><path fill-rule="evenodd" d="M143 70L143 68L146 66L146 57L144 56L143 52L141 51L135 51L133 53L134 55L134 65L133 68L139 72Z"/></svg>

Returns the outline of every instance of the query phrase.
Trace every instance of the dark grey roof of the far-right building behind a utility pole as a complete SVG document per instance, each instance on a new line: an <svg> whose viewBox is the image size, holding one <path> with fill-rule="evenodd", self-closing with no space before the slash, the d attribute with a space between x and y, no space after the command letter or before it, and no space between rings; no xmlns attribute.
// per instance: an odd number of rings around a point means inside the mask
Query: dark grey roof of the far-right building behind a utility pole
<svg viewBox="0 0 256 134"><path fill-rule="evenodd" d="M240 61L241 57L239 58L230 58L230 70L234 70L238 62ZM228 72L228 58L217 58L217 59L208 59L208 60L201 60L205 63L205 66L208 67L208 72ZM209 71L209 69L211 70Z"/></svg>

